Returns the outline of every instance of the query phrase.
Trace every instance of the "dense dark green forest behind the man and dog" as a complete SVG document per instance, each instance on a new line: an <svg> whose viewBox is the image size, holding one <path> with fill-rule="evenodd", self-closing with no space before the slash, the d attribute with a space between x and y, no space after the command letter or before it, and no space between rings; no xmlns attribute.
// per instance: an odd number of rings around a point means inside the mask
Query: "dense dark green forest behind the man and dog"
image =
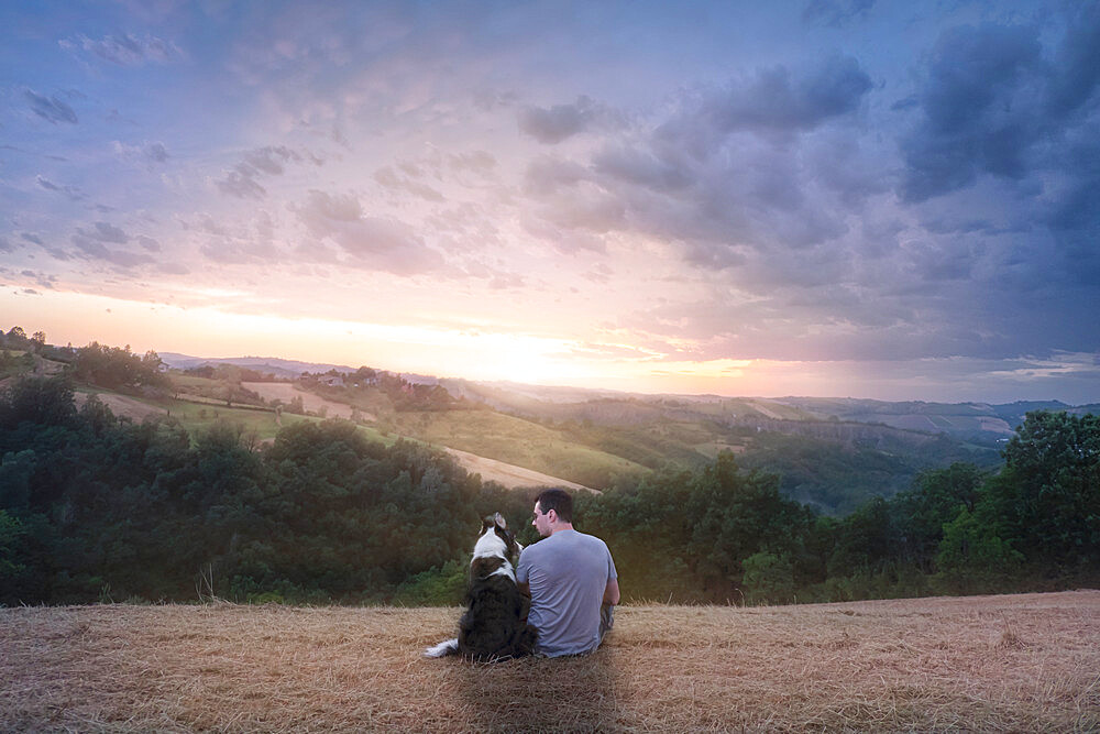
<svg viewBox="0 0 1100 734"><path fill-rule="evenodd" d="M95 397L78 409L68 380L26 376L0 394L0 603L454 603L482 515L501 511L537 540L529 493L422 445L386 447L342 420L298 423L262 447L232 425L193 436L170 417L118 418ZM1003 460L996 472L927 470L828 517L723 452L582 493L576 522L607 540L626 600L1100 581L1100 418L1031 413Z"/></svg>

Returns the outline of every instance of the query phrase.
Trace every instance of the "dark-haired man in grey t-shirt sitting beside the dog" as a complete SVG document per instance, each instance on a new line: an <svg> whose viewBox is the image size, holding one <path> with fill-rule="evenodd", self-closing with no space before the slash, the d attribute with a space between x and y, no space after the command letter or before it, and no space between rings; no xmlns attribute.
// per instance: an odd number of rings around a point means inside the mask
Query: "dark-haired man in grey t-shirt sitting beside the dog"
<svg viewBox="0 0 1100 734"><path fill-rule="evenodd" d="M610 629L618 604L618 574L607 545L573 529L573 497L544 490L531 525L544 539L524 549L516 568L530 595L528 623L539 631L538 651L549 657L591 653Z"/></svg>

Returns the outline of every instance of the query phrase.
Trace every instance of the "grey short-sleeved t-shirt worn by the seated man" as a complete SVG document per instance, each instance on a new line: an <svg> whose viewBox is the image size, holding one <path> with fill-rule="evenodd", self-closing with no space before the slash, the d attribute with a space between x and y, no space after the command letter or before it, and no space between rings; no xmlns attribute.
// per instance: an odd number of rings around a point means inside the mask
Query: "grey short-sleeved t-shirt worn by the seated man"
<svg viewBox="0 0 1100 734"><path fill-rule="evenodd" d="M554 657L594 650L604 590L617 578L607 545L592 535L559 530L525 548L516 580L531 587L527 621L539 631L539 651Z"/></svg>

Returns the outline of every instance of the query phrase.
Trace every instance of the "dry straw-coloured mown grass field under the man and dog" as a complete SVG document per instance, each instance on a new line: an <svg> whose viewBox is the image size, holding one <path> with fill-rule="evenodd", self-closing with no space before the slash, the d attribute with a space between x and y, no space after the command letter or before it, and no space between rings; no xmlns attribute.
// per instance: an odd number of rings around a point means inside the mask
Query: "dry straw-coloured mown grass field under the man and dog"
<svg viewBox="0 0 1100 734"><path fill-rule="evenodd" d="M0 730L1100 730L1100 591L624 606L586 657L422 658L458 615L0 610Z"/></svg>

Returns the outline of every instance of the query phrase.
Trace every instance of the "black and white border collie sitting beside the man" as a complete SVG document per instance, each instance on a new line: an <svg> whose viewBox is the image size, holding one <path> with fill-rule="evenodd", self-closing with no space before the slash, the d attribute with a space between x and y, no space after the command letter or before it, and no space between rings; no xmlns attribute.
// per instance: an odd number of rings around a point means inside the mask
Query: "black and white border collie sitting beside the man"
<svg viewBox="0 0 1100 734"><path fill-rule="evenodd" d="M470 561L466 611L459 621L459 636L429 647L424 651L427 657L461 655L494 661L535 651L538 632L527 624L530 601L516 585L512 566L522 549L501 513L485 518Z"/></svg>

